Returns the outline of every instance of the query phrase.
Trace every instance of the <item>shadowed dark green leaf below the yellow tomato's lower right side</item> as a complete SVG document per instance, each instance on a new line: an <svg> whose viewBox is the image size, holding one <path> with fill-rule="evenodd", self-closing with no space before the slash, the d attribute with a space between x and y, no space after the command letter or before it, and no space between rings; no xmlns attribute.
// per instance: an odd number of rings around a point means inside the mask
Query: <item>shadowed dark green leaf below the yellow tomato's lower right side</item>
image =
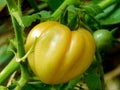
<svg viewBox="0 0 120 90"><path fill-rule="evenodd" d="M93 63L84 74L85 82L89 90L101 90L101 80L97 69L97 62L93 60Z"/></svg>

